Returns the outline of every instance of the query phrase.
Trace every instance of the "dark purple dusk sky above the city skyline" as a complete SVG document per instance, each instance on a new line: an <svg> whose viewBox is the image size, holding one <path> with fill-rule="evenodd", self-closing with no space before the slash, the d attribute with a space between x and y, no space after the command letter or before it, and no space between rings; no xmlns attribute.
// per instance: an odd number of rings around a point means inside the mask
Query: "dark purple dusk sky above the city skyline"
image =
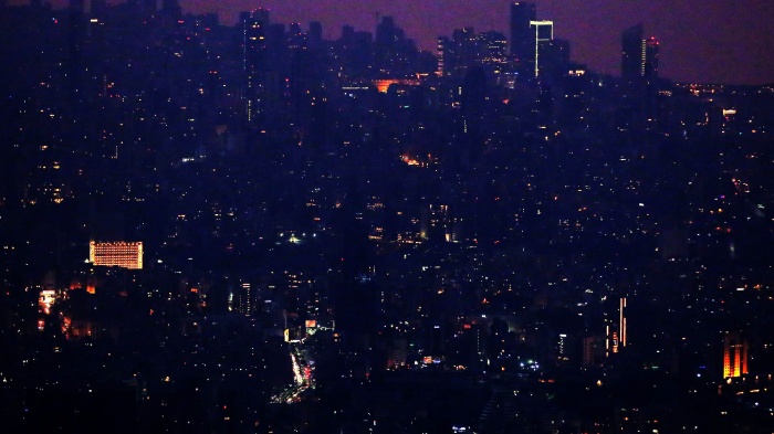
<svg viewBox="0 0 774 434"><path fill-rule="evenodd" d="M65 0L56 0L64 2ZM620 32L638 22L661 41L660 75L677 82L774 83L774 1L771 0L534 0L537 18L554 20L557 38L589 68L620 74ZM160 0L159 0L160 3ZM376 12L394 15L408 36L433 50L456 28L509 35L508 0L180 0L185 11L217 11L231 24L240 10L269 8L272 21L323 23L338 39L343 24L374 31ZM59 4L55 2L55 4Z"/></svg>

